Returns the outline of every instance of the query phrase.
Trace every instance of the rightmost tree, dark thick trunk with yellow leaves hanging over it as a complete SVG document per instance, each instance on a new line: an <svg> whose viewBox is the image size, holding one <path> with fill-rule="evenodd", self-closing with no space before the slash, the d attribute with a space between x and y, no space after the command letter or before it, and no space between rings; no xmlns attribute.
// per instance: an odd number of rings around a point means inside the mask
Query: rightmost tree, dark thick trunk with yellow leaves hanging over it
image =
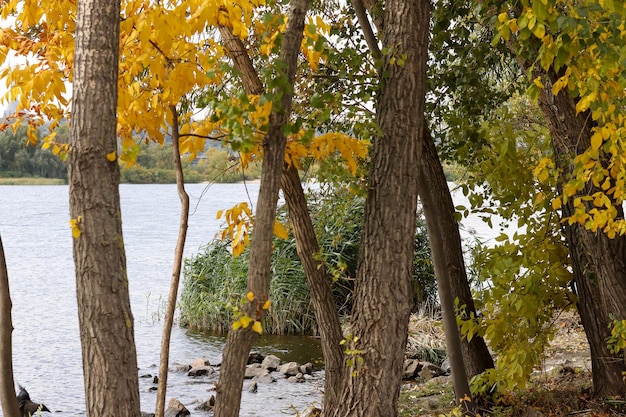
<svg viewBox="0 0 626 417"><path fill-rule="evenodd" d="M553 158L537 175L557 178L552 201L563 221L577 307L592 352L594 392L624 395L626 363L607 346L614 320L626 319L624 233L624 67L621 2L523 1L498 4L499 36L533 83L552 136Z"/></svg>

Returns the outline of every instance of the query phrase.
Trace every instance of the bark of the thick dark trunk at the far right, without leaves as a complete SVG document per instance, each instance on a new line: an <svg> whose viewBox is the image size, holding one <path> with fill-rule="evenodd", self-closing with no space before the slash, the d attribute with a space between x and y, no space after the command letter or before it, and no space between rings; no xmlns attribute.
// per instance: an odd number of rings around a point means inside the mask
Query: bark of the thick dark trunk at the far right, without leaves
<svg viewBox="0 0 626 417"><path fill-rule="evenodd" d="M567 182L573 171L573 159L591 143L592 120L588 112L576 113L576 103L567 91L552 94L552 85L559 75L550 70L543 75L545 88L539 106L552 134L554 156L560 169L559 181ZM587 195L595 192L588 185ZM573 197L563 206L563 216L574 213ZM614 204L618 217L624 216L620 204ZM609 239L603 232L592 232L579 224L563 224L574 273L580 313L591 348L594 394L599 397L626 395L623 380L626 363L607 347L611 316L626 319L626 236Z"/></svg>

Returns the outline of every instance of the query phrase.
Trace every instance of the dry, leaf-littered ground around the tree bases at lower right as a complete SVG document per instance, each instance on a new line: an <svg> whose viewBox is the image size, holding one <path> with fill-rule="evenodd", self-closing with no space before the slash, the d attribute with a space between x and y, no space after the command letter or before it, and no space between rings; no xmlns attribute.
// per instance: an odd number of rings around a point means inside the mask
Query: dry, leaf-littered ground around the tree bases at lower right
<svg viewBox="0 0 626 417"><path fill-rule="evenodd" d="M438 326L411 324L409 351L423 341L436 346L443 340ZM503 395L498 404L481 404L479 413L498 417L609 417L626 416L626 401L596 401L590 397L591 362L589 348L580 320L575 313L557 318L558 331L546 352L546 359L532 377L530 388ZM422 337L420 332L427 336ZM415 348L413 348L415 349ZM407 384L399 403L399 414L442 416L454 413L454 397L449 377Z"/></svg>

